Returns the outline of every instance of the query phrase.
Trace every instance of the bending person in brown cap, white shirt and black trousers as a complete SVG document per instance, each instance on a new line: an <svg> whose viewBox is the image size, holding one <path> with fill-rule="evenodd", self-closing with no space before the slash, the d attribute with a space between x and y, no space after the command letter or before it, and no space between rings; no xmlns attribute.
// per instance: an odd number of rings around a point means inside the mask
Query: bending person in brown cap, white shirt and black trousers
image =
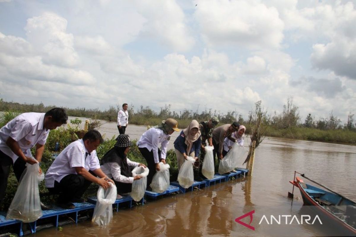
<svg viewBox="0 0 356 237"><path fill-rule="evenodd" d="M178 122L172 118L163 120L161 125L157 125L148 129L142 134L137 142L138 150L140 150L143 158L147 162L147 167L150 170L147 176L147 190L152 190L150 184L156 170L159 171L159 162L166 163L166 152L169 139L174 131L178 129ZM161 143L161 150L158 144Z"/></svg>

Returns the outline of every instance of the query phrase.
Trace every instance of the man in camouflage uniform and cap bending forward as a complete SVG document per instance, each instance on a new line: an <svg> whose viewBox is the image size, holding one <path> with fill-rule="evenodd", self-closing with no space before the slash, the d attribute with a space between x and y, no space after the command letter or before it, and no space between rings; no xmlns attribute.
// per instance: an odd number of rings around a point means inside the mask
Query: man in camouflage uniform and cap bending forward
<svg viewBox="0 0 356 237"><path fill-rule="evenodd" d="M201 173L201 167L203 166L206 141L208 140L209 146L213 146L213 130L218 125L219 119L213 116L209 121L204 121L199 123L200 133L201 133L201 147L200 147L200 158L194 164L194 180L202 181L204 177Z"/></svg>

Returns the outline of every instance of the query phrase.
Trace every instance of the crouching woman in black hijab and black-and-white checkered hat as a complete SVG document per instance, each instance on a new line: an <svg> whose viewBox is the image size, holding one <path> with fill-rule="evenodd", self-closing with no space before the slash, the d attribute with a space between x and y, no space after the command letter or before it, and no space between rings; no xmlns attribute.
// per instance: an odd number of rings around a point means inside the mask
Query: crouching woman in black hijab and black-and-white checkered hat
<svg viewBox="0 0 356 237"><path fill-rule="evenodd" d="M122 195L130 193L132 182L140 179L140 176L132 177L131 170L136 166L143 166L144 164L130 161L127 158L127 153L132 145L130 137L127 134L120 134L116 138L116 143L101 159L101 170L111 178L117 188L117 198L122 198Z"/></svg>

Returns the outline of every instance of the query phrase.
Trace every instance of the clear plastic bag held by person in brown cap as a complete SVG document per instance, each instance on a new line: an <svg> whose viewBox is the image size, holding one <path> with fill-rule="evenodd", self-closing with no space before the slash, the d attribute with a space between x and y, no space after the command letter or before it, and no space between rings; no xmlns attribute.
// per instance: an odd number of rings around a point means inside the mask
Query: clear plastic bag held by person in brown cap
<svg viewBox="0 0 356 237"><path fill-rule="evenodd" d="M150 184L153 192L163 193L169 187L169 165L159 162L159 171L155 173Z"/></svg>

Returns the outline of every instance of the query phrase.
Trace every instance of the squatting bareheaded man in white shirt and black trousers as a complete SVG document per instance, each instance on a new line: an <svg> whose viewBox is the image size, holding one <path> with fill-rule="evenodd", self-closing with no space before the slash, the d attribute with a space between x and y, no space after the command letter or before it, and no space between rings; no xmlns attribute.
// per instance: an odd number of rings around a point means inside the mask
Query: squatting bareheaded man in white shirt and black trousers
<svg viewBox="0 0 356 237"><path fill-rule="evenodd" d="M59 194L57 205L61 208L74 209L73 203L82 203L82 195L92 182L104 189L109 188L109 182L114 184L100 169L95 149L101 142L101 134L90 130L83 139L64 148L48 168L45 184L50 193Z"/></svg>

